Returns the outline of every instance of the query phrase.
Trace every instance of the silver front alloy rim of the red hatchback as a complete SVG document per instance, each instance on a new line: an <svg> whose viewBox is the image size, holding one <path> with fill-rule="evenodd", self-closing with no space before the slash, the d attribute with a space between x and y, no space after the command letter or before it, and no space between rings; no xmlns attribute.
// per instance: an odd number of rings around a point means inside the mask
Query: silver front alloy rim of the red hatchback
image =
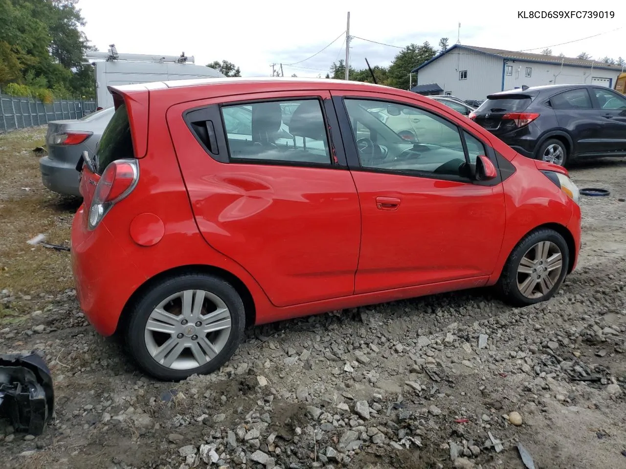
<svg viewBox="0 0 626 469"><path fill-rule="evenodd" d="M540 241L522 256L517 268L517 288L526 298L541 298L557 285L563 253L552 241Z"/></svg>

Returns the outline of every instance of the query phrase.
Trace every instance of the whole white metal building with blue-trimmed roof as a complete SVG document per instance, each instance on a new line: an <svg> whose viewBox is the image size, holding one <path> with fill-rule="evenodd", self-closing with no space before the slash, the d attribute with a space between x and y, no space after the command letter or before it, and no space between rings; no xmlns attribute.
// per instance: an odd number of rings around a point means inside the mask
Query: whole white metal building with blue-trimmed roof
<svg viewBox="0 0 626 469"><path fill-rule="evenodd" d="M490 93L523 85L587 83L613 88L621 72L622 66L600 61L461 44L411 70L418 75L418 89L442 89L439 94L461 99L485 99Z"/></svg>

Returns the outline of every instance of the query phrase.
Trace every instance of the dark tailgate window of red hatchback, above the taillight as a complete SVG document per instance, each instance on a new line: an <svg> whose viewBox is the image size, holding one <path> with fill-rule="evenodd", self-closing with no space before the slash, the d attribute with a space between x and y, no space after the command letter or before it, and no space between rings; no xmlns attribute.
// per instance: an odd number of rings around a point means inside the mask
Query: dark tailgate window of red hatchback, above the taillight
<svg viewBox="0 0 626 469"><path fill-rule="evenodd" d="M135 158L126 104L116 109L98 143L96 172L102 175L106 166L117 159L124 158Z"/></svg>

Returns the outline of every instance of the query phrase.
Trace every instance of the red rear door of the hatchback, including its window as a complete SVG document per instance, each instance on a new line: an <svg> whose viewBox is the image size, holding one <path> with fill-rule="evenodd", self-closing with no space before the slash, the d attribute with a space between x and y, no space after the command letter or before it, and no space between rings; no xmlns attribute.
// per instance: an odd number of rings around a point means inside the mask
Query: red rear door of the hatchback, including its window
<svg viewBox="0 0 626 469"><path fill-rule="evenodd" d="M280 104L292 105L289 138L281 136L281 107L289 106ZM250 116L250 126L235 115ZM361 214L336 119L327 91L254 93L168 109L200 232L249 271L276 306L354 291Z"/></svg>

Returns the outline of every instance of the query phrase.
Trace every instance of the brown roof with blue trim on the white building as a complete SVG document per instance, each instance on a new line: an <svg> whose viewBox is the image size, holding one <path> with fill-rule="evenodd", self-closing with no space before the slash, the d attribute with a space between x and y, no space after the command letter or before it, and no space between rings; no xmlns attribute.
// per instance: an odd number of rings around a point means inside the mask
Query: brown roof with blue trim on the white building
<svg viewBox="0 0 626 469"><path fill-rule="evenodd" d="M529 54L525 52L505 51L501 49L479 48L479 47L474 47L474 46L463 46L461 44L454 44L454 46L449 47L448 49L443 51L443 53L434 56L432 59L424 62L423 64L411 70L411 73L416 73L419 69L424 68L429 63L436 61L438 58L443 57L444 54L447 54L456 48L464 49L465 51L468 51L469 53L478 52L480 54L485 54L487 56L491 56L491 57L495 57L499 59L506 59L506 60L519 60L519 61L525 61L525 62L532 62L532 63L538 63L538 64L550 64L550 65L560 65L561 63L563 63L563 65L567 65L570 67L580 67L580 68L593 67L593 68L602 69L602 70L612 70L612 71L615 71L615 73L620 73L620 71L622 71L621 66L617 66L617 65L611 66L609 64L605 64L605 63L594 61L594 60L588 60L588 59L578 59L578 58L568 58L568 57L562 58L562 57L557 57L557 56L546 56L543 54Z"/></svg>

